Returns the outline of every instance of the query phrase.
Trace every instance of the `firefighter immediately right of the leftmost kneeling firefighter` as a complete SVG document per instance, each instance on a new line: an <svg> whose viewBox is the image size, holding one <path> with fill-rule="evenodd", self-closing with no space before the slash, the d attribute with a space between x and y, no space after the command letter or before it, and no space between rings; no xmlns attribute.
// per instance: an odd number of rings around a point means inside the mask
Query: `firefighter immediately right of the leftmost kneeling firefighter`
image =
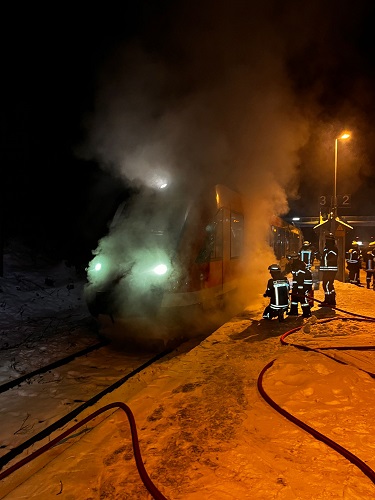
<svg viewBox="0 0 375 500"><path fill-rule="evenodd" d="M312 274L307 269L306 264L302 262L298 254L290 256L290 260L285 267L284 273L292 274L292 296L288 315L298 316L298 304L301 304L302 316L309 318L311 316L311 306L308 300L308 294L312 290Z"/></svg>

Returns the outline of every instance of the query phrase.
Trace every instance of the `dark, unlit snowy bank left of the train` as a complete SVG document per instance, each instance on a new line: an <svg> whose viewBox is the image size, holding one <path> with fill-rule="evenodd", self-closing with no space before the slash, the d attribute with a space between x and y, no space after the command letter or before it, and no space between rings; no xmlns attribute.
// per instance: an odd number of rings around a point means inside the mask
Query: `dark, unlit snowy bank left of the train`
<svg viewBox="0 0 375 500"><path fill-rule="evenodd" d="M3 256L0 277L0 348L11 349L33 336L48 338L56 330L90 320L82 299L84 278L64 262L35 256L12 245Z"/></svg>

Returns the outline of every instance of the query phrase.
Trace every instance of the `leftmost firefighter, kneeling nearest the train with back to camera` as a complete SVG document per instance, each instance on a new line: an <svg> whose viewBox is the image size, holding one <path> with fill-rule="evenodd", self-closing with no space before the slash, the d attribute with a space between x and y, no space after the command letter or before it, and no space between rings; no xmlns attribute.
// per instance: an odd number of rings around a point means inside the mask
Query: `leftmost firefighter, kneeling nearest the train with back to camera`
<svg viewBox="0 0 375 500"><path fill-rule="evenodd" d="M263 312L263 318L277 317L279 321L284 321L284 313L289 307L289 280L283 276L278 264L271 264L268 270L271 278L267 282L263 297L270 297L270 303Z"/></svg>

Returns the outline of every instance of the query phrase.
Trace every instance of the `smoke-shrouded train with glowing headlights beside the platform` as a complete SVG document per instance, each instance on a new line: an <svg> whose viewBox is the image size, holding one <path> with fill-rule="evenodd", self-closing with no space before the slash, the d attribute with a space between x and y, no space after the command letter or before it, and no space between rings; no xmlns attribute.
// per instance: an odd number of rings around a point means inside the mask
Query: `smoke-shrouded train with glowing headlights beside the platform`
<svg viewBox="0 0 375 500"><path fill-rule="evenodd" d="M282 261L301 230L273 217L269 245ZM196 191L140 188L118 208L87 268L84 294L101 334L148 345L213 326L245 269L242 196L223 184ZM229 307L230 309L230 307ZM172 332L172 333L171 333ZM143 343L143 342L141 342Z"/></svg>

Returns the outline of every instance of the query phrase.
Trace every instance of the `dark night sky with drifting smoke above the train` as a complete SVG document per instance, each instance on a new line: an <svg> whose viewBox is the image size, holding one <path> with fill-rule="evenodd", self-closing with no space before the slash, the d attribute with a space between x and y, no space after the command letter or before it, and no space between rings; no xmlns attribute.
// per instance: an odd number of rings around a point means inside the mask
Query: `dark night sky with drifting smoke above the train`
<svg viewBox="0 0 375 500"><path fill-rule="evenodd" d="M246 172L245 185L272 163L289 215L315 216L344 129L337 192L351 195L350 214L374 214L372 0L28 9L3 16L5 240L85 261L131 181L161 158L181 159L182 177L210 162L220 181Z"/></svg>

